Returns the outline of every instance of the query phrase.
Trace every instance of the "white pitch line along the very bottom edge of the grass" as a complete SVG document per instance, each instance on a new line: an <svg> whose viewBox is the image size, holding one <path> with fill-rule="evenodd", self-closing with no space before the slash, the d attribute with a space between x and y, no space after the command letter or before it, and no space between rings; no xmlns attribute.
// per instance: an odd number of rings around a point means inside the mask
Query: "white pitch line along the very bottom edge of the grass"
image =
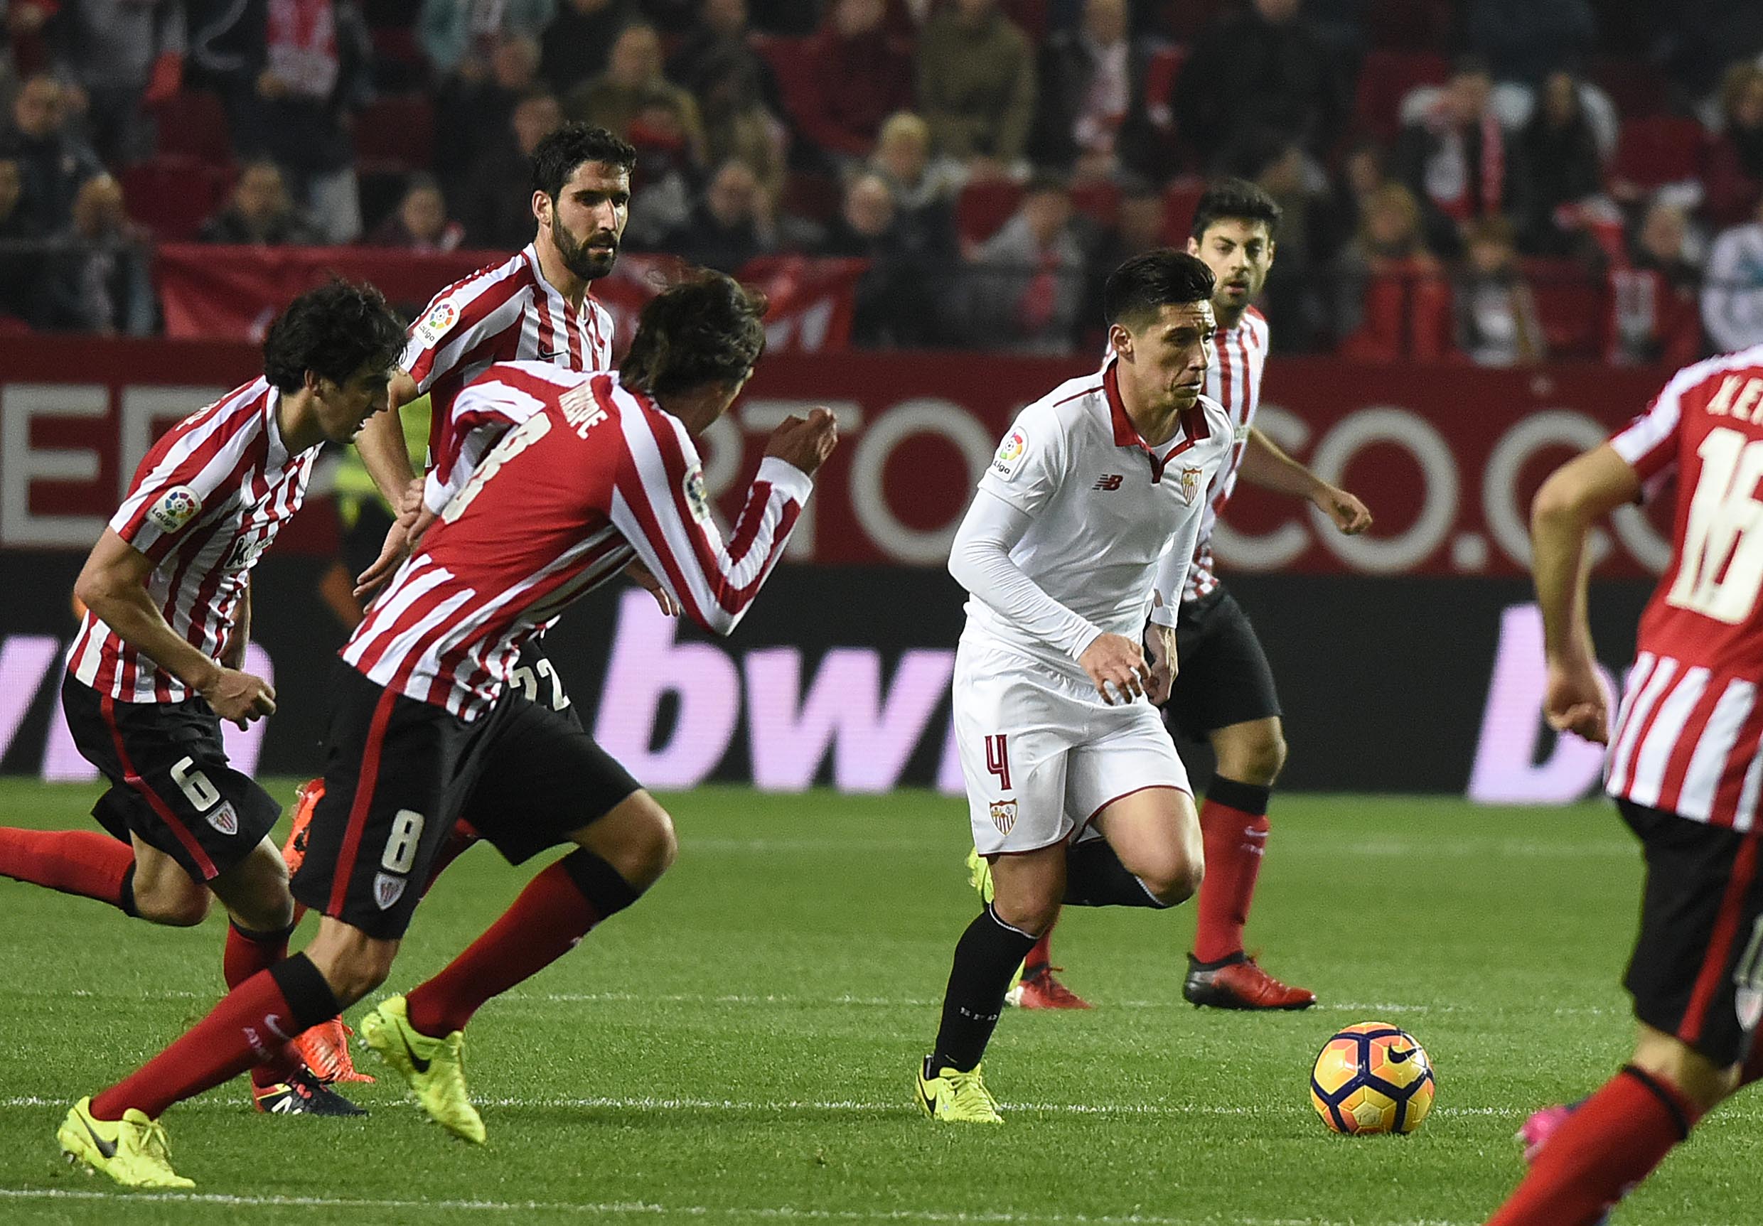
<svg viewBox="0 0 1763 1226"><path fill-rule="evenodd" d="M85 1189L0 1189L0 1200L79 1200L143 1205L166 1201L175 1205L215 1205L224 1208L420 1208L428 1212L481 1212L481 1214L573 1214L587 1217L733 1217L758 1221L813 1221L813 1222L950 1222L963 1226L1213 1226L1211 1217L1162 1217L1153 1214L1014 1214L1014 1212L950 1212L936 1208L797 1208L793 1205L740 1207L740 1205L652 1205L647 1201L490 1201L490 1200L376 1200L367 1196L229 1196L224 1193L106 1193ZM1345 1222L1333 1217L1239 1217L1234 1226L1470 1226L1442 1217L1405 1217L1387 1222L1356 1219Z"/></svg>

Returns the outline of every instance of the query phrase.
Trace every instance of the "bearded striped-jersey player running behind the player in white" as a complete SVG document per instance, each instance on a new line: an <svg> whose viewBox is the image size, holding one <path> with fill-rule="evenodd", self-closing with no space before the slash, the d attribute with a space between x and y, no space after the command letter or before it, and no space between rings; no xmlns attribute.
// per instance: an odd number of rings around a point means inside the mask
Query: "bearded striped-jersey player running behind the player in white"
<svg viewBox="0 0 1763 1226"><path fill-rule="evenodd" d="M1164 705L1164 720L1172 733L1209 742L1216 757L1201 805L1206 879L1181 993L1195 1006L1222 1009L1305 1009L1315 1004L1315 993L1280 983L1243 949L1268 844L1268 800L1285 764L1285 729L1255 627L1216 574L1213 527L1238 476L1308 500L1345 534L1372 525L1363 502L1317 477L1253 425L1269 345L1268 319L1253 301L1273 268L1278 231L1280 206L1271 196L1245 180L1222 180L1201 197L1188 233L1188 254L1202 259L1216 278L1211 303L1218 336L1206 395L1231 414L1236 446L1213 477L1181 590L1176 620L1181 671ZM989 881L977 858L973 868L986 897ZM1049 928L1030 949L1012 1002L1030 1009L1088 1008L1054 978L1051 939Z"/></svg>

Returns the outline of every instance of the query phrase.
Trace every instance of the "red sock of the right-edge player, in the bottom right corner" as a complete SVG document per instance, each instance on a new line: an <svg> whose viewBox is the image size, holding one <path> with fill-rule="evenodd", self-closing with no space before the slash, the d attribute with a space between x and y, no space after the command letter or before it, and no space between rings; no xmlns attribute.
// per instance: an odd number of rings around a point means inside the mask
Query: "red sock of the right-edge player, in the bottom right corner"
<svg viewBox="0 0 1763 1226"><path fill-rule="evenodd" d="M1548 1138L1488 1226L1592 1226L1689 1136L1701 1108L1625 1067Z"/></svg>

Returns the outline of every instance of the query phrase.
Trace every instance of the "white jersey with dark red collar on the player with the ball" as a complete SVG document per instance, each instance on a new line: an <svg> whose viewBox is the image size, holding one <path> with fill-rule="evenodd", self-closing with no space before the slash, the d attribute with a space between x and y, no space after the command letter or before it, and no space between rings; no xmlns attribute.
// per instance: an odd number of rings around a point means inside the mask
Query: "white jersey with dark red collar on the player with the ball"
<svg viewBox="0 0 1763 1226"><path fill-rule="evenodd" d="M1010 560L1049 597L1107 634L1139 638L1151 611L1158 565L1174 550L1172 587L1162 592L1172 622L1194 557L1206 491L1234 444L1231 416L1201 396L1181 430L1151 449L1120 400L1114 363L1072 379L1024 409L1010 426L982 499L1030 516ZM966 604L964 639L1007 646L1061 673L1077 662L991 608Z"/></svg>

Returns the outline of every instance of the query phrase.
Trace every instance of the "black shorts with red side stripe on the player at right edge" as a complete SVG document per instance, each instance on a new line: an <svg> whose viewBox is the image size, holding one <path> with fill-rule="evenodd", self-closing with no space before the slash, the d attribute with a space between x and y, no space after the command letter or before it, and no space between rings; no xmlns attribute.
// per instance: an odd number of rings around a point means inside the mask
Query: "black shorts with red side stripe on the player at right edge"
<svg viewBox="0 0 1763 1226"><path fill-rule="evenodd" d="M1726 1067L1763 1018L1763 837L1618 800L1647 853L1634 1016Z"/></svg>

